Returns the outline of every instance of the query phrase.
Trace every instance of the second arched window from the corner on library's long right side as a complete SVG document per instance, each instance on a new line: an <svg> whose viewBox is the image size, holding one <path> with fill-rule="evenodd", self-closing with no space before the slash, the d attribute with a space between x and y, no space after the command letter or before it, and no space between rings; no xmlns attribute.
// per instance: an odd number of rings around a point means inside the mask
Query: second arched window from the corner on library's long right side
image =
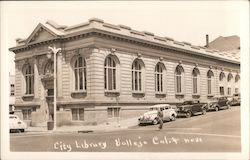
<svg viewBox="0 0 250 160"><path fill-rule="evenodd" d="M135 59L132 64L132 91L143 91L143 62Z"/></svg>

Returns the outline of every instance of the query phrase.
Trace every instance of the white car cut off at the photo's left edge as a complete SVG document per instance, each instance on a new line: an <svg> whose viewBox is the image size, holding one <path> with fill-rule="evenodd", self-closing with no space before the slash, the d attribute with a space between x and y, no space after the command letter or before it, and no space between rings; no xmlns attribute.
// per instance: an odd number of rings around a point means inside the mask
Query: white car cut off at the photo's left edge
<svg viewBox="0 0 250 160"><path fill-rule="evenodd" d="M24 132L25 129L27 129L27 124L23 122L17 115L10 114L9 127L10 127L10 132L13 130Z"/></svg>

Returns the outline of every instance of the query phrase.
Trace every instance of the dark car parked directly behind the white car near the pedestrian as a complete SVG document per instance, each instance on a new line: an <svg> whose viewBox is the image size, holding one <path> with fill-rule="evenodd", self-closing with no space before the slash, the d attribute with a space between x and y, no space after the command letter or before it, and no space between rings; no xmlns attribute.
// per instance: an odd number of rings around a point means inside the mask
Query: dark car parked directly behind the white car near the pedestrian
<svg viewBox="0 0 250 160"><path fill-rule="evenodd" d="M199 100L189 100L184 101L180 106L178 106L177 115L191 117L194 114L201 113L206 114L207 103L200 103Z"/></svg>

